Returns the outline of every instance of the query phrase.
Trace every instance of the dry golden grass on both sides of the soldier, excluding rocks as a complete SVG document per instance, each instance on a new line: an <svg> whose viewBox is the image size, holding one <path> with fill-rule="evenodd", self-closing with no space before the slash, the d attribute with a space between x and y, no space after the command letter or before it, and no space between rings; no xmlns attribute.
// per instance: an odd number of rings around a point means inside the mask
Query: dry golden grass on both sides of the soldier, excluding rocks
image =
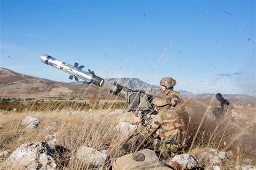
<svg viewBox="0 0 256 170"><path fill-rule="evenodd" d="M187 130L188 147L184 148L181 153L187 153L190 150L190 153L204 167L211 167L212 164L209 164L209 158L202 157L200 153L205 148L211 147L217 148L218 151L233 151L233 159L224 162L222 165L226 168L240 164L243 158L253 160L255 148L252 148L251 151L248 148L254 146L253 143L255 143L255 138L252 136L252 134L255 134L255 117L253 115L255 108L241 106L235 108L237 112L242 112L251 119L244 118L240 122L223 119L216 122L213 121L210 112L213 105L209 102L187 101L186 110L190 116L190 121L187 121L189 122ZM48 141L46 135L54 132L57 133L58 145L66 148L65 154L61 158L62 162L59 162L59 164L65 165L68 169L90 168L90 165L84 165L83 162L75 159L75 153L80 146L107 150L109 160L135 151L138 146L137 143L130 141L129 144L124 145L123 141L127 135L116 128L119 122L131 122L129 115L110 115L110 111L97 110L95 112L80 112L80 114L72 114L73 111L65 110L47 110L44 112L29 112L28 110L22 113L0 112L0 151L8 149L12 152L29 141ZM25 126L21 125L22 119L27 116L35 116L41 120L37 129L27 131ZM202 119L203 117L204 119ZM45 129L48 126L56 126L56 129L46 132ZM191 146L193 139L194 143ZM225 141L227 143L224 145ZM229 144L230 146L228 146ZM3 161L4 159L0 160L1 169L3 168ZM252 161L251 164L255 164L255 162Z"/></svg>

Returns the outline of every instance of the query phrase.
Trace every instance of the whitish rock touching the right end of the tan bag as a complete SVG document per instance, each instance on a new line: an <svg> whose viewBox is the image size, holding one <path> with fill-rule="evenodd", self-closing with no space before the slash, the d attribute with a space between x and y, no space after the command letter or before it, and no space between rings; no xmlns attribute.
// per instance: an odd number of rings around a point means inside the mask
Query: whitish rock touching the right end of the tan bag
<svg viewBox="0 0 256 170"><path fill-rule="evenodd" d="M172 158L172 161L177 162L184 169L197 168L197 161L190 154L180 154Z"/></svg>

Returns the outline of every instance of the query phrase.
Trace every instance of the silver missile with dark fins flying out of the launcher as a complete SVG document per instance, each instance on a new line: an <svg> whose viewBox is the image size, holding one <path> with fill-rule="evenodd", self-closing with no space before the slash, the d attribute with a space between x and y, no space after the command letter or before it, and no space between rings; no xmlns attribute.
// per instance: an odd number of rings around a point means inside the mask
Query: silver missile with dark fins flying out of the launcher
<svg viewBox="0 0 256 170"><path fill-rule="evenodd" d="M79 64L77 62L75 62L75 65L72 66L72 65L69 65L68 63L59 61L53 58L52 56L46 55L46 54L43 54L41 56L41 61L43 63L46 63L46 65L50 65L52 67L62 70L63 72L70 74L69 79L71 80L73 79L73 77L75 77L76 81L78 81L78 78L79 78L86 81L84 83L87 83L87 84L93 83L96 86L100 86L100 87L103 86L104 84L104 79L95 75L95 73L93 71L91 72L90 69L89 69L89 72L82 70L84 66L81 65L78 67Z"/></svg>

